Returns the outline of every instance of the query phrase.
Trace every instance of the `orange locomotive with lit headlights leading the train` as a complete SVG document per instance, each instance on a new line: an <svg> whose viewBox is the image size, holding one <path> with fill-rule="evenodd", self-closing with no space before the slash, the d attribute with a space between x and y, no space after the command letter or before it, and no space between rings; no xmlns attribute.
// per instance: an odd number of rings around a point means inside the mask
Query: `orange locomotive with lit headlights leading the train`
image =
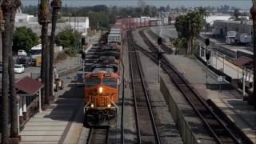
<svg viewBox="0 0 256 144"><path fill-rule="evenodd" d="M118 74L94 70L86 74L84 90L85 124L113 125L118 115Z"/></svg>

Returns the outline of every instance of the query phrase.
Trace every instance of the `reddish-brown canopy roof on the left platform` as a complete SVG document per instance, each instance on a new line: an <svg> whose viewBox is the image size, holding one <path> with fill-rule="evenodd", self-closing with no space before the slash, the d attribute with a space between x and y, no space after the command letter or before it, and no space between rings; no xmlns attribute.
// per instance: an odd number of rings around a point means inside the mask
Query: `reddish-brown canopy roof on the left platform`
<svg viewBox="0 0 256 144"><path fill-rule="evenodd" d="M37 94L42 89L43 84L28 76L18 79L14 84L15 88L30 95Z"/></svg>

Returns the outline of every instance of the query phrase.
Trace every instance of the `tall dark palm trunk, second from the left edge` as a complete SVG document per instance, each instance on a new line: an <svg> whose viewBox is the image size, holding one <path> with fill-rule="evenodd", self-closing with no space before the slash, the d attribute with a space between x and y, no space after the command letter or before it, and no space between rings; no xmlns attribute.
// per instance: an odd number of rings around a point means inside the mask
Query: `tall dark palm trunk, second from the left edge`
<svg viewBox="0 0 256 144"><path fill-rule="evenodd" d="M10 137L11 138L17 138L18 137L18 99L16 90L14 88L14 82L15 82L15 74L14 74L14 61L13 61L13 51L12 51L12 40L13 40L13 32L14 32L14 22L15 22L15 14L18 10L18 7L21 6L20 0L13 0L13 6L11 8L11 14L10 14L10 43L8 46L9 49L9 85L10 85Z"/></svg>

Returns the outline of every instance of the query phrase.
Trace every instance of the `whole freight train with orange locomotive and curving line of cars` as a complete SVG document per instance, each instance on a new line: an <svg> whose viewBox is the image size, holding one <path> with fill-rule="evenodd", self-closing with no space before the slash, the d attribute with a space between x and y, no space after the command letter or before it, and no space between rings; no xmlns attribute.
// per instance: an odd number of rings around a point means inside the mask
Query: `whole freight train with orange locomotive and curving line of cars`
<svg viewBox="0 0 256 144"><path fill-rule="evenodd" d="M158 18L123 18L101 38L91 72L85 74L84 113L86 126L113 126L118 116L119 61L123 30L157 26Z"/></svg>

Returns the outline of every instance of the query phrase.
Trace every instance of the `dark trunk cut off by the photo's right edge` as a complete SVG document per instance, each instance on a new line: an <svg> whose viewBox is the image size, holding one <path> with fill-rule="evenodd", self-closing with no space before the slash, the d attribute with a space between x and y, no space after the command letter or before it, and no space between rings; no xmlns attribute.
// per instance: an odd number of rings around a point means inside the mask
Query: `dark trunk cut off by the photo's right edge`
<svg viewBox="0 0 256 144"><path fill-rule="evenodd" d="M251 7L250 9L250 14L252 15L252 19L253 19L253 29L254 29L254 89L256 87L256 0L252 0L253 2L253 6ZM254 90L253 89L253 90ZM250 104L253 104L254 107L256 108L256 97L255 97L255 90L253 91L253 94L250 95L250 98L249 98L249 103Z"/></svg>

